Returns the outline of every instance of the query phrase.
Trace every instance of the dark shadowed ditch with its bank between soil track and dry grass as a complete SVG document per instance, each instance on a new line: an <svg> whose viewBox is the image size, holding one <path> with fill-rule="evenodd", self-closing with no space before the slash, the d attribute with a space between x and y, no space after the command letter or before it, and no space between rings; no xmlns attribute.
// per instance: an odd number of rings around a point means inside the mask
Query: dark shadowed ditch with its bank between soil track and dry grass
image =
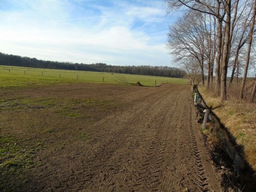
<svg viewBox="0 0 256 192"><path fill-rule="evenodd" d="M231 187L234 191L255 191L256 172L243 158L244 147L237 144L236 138L221 123L221 119L207 107L199 91L197 89L195 91L198 95L196 107L201 117L198 119L199 123L203 123L204 110L209 109L206 129L201 131L212 160L222 172L223 187Z"/></svg>

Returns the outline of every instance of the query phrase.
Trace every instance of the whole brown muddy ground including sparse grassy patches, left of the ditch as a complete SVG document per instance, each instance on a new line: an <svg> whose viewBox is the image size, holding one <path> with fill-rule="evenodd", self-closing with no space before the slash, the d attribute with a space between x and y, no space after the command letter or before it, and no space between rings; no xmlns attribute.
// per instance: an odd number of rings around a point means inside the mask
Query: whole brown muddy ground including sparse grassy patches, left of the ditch
<svg viewBox="0 0 256 192"><path fill-rule="evenodd" d="M1 135L39 146L37 163L22 167L26 179L3 174L2 190L222 190L189 85L54 85L0 95Z"/></svg>

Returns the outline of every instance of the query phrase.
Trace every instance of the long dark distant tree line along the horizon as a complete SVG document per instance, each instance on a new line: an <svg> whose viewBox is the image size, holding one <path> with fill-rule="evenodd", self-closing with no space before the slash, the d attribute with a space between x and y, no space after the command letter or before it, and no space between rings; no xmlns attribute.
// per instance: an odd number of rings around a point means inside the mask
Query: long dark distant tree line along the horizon
<svg viewBox="0 0 256 192"><path fill-rule="evenodd" d="M134 75L150 75L163 77L183 78L186 72L182 69L167 66L112 66L106 63L71 63L58 61L45 61L36 58L21 57L19 55L0 53L0 65L33 67L46 69L84 70L109 73L122 73Z"/></svg>

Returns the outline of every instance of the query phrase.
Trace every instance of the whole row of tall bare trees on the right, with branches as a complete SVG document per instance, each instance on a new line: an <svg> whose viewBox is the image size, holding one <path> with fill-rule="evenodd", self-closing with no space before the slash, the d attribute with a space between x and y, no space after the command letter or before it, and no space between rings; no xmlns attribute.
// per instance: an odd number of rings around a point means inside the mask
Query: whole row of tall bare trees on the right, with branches
<svg viewBox="0 0 256 192"><path fill-rule="evenodd" d="M215 93L227 100L229 85L244 71L240 97L244 97L255 40L256 0L165 0L170 13L182 16L169 27L167 49L186 70L200 69L209 88L215 76ZM195 70L195 69L194 69ZM206 73L206 74L205 74ZM204 77L207 75L207 83ZM256 86L256 80L255 80ZM251 101L255 97L253 90Z"/></svg>

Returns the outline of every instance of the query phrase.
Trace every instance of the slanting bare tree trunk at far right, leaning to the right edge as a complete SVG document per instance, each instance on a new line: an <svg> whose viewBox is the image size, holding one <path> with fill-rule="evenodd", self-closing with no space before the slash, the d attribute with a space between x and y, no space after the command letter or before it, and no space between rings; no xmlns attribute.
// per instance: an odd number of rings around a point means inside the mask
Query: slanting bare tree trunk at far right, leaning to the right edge
<svg viewBox="0 0 256 192"><path fill-rule="evenodd" d="M256 14L256 0L254 0L254 4L253 4L253 15L252 15L251 27L250 27L249 38L248 38L248 48L247 48L245 67L244 67L244 76L243 76L243 82L242 82L242 89L240 92L241 99L244 98L244 87L245 87L247 71L248 71L249 61L250 61L252 36L253 36L253 29L254 29L254 25L255 25L255 14Z"/></svg>

